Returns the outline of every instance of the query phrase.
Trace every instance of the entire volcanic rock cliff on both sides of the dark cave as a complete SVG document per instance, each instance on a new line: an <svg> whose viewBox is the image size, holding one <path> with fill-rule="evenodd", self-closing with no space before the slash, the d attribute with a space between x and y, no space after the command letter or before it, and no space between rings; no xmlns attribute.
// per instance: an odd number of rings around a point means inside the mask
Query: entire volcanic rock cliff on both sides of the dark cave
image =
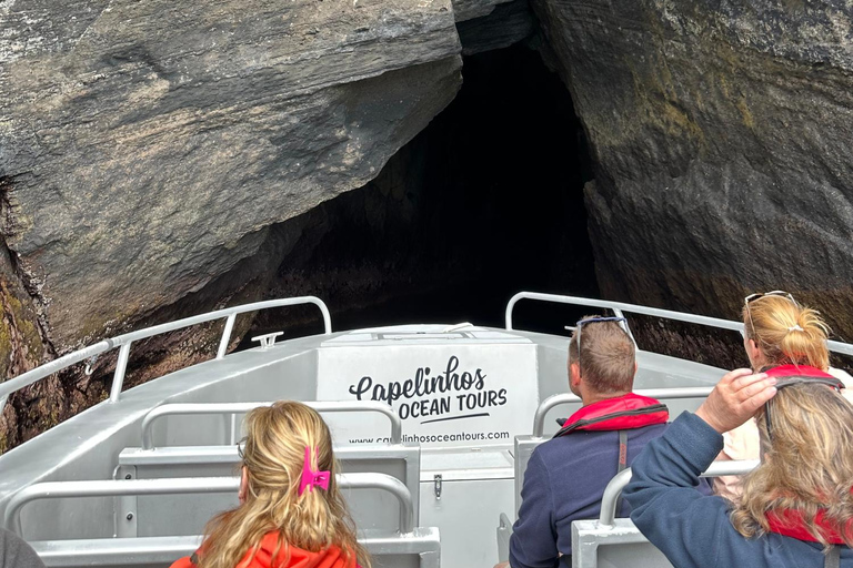
<svg viewBox="0 0 853 568"><path fill-rule="evenodd" d="M282 262L323 250L342 217L320 205L454 99L462 52L531 37L589 140L603 296L735 317L745 291L783 287L851 339L852 30L842 0L0 0L0 377L312 282ZM351 200L375 239L418 219L395 175L420 158L395 160L375 183L393 206ZM163 372L215 335L137 351L177 353ZM0 450L106 386L22 395Z"/></svg>

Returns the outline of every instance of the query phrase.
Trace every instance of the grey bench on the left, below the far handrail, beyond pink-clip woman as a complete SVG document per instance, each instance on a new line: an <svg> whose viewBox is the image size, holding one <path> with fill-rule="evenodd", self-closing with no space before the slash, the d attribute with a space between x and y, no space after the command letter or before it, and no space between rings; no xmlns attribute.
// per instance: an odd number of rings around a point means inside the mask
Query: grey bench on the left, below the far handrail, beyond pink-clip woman
<svg viewBox="0 0 853 568"><path fill-rule="evenodd" d="M342 473L379 473L402 481L412 496L419 518L421 448L412 444L343 446L334 449ZM237 446L182 446L154 449L126 448L119 455L116 479L161 479L181 477L227 477L238 475ZM399 503L378 489L344 491L355 525L360 528L397 527ZM213 515L237 506L237 495L151 495L122 498L117 505L117 535L194 535ZM131 521L127 513L133 513Z"/></svg>

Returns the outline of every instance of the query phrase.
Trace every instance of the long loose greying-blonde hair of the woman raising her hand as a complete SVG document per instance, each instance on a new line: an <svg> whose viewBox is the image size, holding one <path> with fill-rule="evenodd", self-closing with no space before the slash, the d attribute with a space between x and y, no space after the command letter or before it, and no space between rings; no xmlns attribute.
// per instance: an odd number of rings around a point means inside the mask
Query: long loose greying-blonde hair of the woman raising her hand
<svg viewBox="0 0 853 568"><path fill-rule="evenodd" d="M770 530L771 510L787 509L800 513L809 532L829 546L814 523L823 510L824 523L853 546L853 406L835 390L809 384L780 389L770 404L773 437L761 410L756 422L765 454L743 479L732 525L746 538L760 536Z"/></svg>

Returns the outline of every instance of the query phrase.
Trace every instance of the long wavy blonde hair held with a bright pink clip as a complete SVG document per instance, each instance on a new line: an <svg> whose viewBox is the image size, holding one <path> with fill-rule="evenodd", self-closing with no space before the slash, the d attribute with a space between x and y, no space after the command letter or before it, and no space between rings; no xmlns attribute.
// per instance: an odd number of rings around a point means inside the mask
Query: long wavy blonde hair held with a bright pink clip
<svg viewBox="0 0 853 568"><path fill-rule="evenodd" d="M355 540L355 528L338 489L339 466L332 454L329 427L304 404L281 400L245 416L243 466L248 475L245 501L214 517L205 529L199 568L234 568L251 550L258 552L264 535L279 532L273 558L287 560L289 547L317 552L337 546L348 558L370 567L367 551ZM299 495L305 459L331 471L329 490L313 487Z"/></svg>

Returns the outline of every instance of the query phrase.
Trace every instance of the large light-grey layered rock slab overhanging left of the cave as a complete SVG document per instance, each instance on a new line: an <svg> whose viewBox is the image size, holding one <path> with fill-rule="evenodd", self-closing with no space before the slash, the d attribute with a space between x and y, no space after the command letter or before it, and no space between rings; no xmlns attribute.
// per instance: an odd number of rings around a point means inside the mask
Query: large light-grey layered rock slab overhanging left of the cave
<svg viewBox="0 0 853 568"><path fill-rule="evenodd" d="M373 179L461 84L449 0L11 1L0 27L2 232L60 352Z"/></svg>

